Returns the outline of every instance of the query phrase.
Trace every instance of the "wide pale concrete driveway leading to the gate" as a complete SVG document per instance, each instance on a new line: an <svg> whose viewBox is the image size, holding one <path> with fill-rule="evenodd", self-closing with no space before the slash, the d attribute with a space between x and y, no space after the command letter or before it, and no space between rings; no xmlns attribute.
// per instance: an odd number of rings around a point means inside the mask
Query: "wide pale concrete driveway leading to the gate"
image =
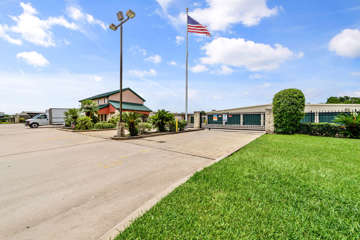
<svg viewBox="0 0 360 240"><path fill-rule="evenodd" d="M114 141L0 125L0 239L99 239L144 203L261 132Z"/></svg>

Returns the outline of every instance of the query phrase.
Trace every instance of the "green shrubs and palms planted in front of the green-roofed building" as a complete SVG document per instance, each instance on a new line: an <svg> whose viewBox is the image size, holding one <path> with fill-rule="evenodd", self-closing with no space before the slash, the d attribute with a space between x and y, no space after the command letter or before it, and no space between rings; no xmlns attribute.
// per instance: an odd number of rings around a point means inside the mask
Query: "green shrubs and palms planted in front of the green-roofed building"
<svg viewBox="0 0 360 240"><path fill-rule="evenodd" d="M90 129L115 129L120 121L120 115L115 114L108 121L99 121L98 107L92 100L81 102L80 109L72 108L65 112L65 126L76 130ZM159 110L150 118L136 112L124 112L123 121L129 131L130 136L137 136L151 131L176 131L176 121L174 114ZM186 127L186 121L178 122L179 131Z"/></svg>

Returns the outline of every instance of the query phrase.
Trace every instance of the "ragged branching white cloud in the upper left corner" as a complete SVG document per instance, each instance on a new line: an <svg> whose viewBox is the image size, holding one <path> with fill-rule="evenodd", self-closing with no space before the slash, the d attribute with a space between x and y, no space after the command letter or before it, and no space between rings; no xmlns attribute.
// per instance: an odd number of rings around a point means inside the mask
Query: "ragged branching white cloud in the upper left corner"
<svg viewBox="0 0 360 240"><path fill-rule="evenodd" d="M9 34L20 35L23 40L36 45L50 47L55 46L53 26L62 26L71 30L78 30L75 23L68 22L64 17L49 17L48 19L40 19L38 12L32 7L31 3L20 3L23 12L19 16L11 16L10 18L16 23L14 26L0 25L0 37L10 43L21 45L20 39L10 37Z"/></svg>

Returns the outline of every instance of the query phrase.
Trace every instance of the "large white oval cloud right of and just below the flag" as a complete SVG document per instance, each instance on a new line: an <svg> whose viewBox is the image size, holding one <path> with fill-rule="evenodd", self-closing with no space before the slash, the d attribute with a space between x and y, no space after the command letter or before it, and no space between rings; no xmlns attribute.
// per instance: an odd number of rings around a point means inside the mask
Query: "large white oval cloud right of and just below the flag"
<svg viewBox="0 0 360 240"><path fill-rule="evenodd" d="M242 38L217 38L202 49L207 55L201 58L202 64L245 67L250 71L274 70L286 60L297 57L280 44L272 47Z"/></svg>

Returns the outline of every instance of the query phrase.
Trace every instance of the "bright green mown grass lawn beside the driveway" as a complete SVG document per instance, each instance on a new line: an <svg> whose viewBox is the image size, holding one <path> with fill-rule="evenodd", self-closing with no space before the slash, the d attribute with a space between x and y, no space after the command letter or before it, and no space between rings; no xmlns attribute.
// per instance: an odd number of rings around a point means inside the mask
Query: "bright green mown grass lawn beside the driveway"
<svg viewBox="0 0 360 240"><path fill-rule="evenodd" d="M119 239L360 239L360 140L265 135L195 174Z"/></svg>

